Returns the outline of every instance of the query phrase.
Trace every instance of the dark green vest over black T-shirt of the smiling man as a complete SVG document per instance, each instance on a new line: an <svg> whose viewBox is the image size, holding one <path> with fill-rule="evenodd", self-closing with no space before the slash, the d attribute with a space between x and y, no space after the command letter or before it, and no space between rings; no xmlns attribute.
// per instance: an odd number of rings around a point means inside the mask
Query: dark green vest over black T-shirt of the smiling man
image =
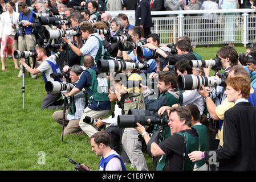
<svg viewBox="0 0 256 182"><path fill-rule="evenodd" d="M182 151L183 157L183 171L193 171L195 162L189 159L188 154L193 151L199 150L199 137L193 137L187 132L179 132L178 135L184 137L184 147ZM156 171L162 171L165 166L166 155L162 155L159 163L157 164Z"/></svg>

